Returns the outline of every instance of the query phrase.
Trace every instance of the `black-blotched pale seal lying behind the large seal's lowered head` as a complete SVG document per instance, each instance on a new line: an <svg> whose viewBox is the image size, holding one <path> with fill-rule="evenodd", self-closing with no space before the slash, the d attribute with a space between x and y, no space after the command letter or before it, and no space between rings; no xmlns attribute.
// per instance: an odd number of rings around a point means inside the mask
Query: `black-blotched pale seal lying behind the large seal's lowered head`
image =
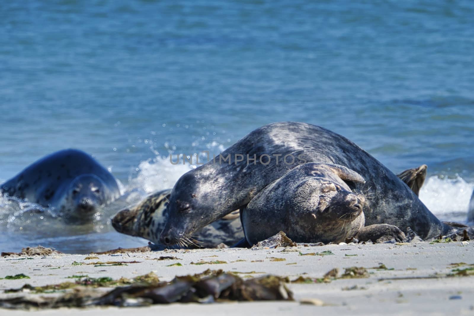
<svg viewBox="0 0 474 316"><path fill-rule="evenodd" d="M113 217L112 226L119 232L131 236L143 237L160 244L160 234L166 221L171 189L148 195L143 201L125 208ZM234 245L244 237L239 213L228 214L196 232L194 238L187 237L178 244L181 247L213 248L220 243Z"/></svg>

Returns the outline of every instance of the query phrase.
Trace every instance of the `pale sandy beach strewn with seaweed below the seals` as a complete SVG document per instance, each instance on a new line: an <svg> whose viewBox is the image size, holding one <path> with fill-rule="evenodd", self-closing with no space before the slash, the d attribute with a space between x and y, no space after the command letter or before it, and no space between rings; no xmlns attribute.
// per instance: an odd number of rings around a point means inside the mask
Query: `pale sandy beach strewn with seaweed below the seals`
<svg viewBox="0 0 474 316"><path fill-rule="evenodd" d="M314 255L312 255L314 254ZM323 255L325 254L325 255ZM101 315L142 315L156 313L192 313L193 315L472 315L474 243L375 244L279 247L274 249L198 249L164 250L116 255L51 254L45 256L10 255L0 258L0 278L24 273L30 279L0 280L0 298L18 295L3 293L25 283L32 286L62 283L73 275L89 277L134 278L155 272L160 281L171 281L176 275L200 273L206 269L222 269L247 279L265 274L288 276L290 280L322 278L337 268L337 278L329 282L288 283L295 301L235 302L214 304L154 305L151 307L91 307L88 312ZM157 260L172 256L174 260ZM226 262L226 263L204 263ZM99 264L90 264L98 263ZM107 262L137 262L123 265ZM82 263L82 264L81 264ZM88 264L89 263L89 264ZM181 265L175 265L180 263ZM81 264L81 265L78 265ZM363 278L342 279L349 267L364 267ZM456 270L457 269L457 270ZM466 271L462 272L462 270ZM461 271L461 272L460 272ZM467 274L461 276L458 274ZM104 289L106 290L106 289ZM51 295L51 294L49 294ZM59 295L59 294L53 294ZM314 300L316 299L316 300ZM310 300L313 304L301 301ZM40 310L40 315L79 315L82 308ZM2 309L0 314L7 312ZM8 310L8 315L25 313Z"/></svg>

